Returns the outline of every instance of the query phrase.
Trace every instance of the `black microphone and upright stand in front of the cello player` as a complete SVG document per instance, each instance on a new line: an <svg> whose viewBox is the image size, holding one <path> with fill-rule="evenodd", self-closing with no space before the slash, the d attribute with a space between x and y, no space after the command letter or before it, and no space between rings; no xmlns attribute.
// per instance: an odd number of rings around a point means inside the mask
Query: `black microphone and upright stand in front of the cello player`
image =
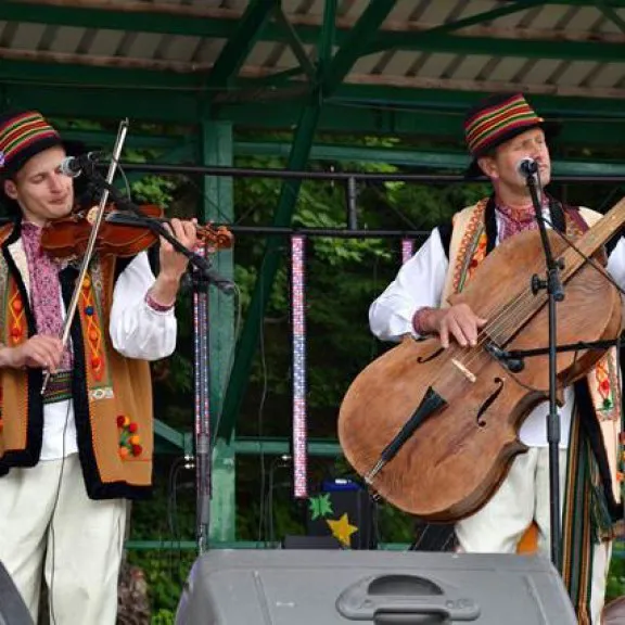
<svg viewBox="0 0 625 625"><path fill-rule="evenodd" d="M564 299L564 289L560 280L561 262L553 258L553 253L547 237L547 228L543 219L543 205L538 197L536 180L538 178L538 167L532 163L531 167L524 171L525 182L532 204L536 213L536 220L540 232L540 240L545 252L547 267L547 279L543 280L538 275L532 277L532 292L537 295L539 291L546 290L548 296L549 314L549 414L547 417L547 442L549 444L549 488L550 488L550 519L551 519L551 562L561 571L561 519L560 519L560 414L557 404L557 303Z"/></svg>

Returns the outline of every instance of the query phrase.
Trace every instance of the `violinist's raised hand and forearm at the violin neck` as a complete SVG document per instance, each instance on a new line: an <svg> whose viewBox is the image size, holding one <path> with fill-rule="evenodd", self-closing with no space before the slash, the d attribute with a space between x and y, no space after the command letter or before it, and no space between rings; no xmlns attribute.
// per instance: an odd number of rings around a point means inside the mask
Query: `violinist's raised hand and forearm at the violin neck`
<svg viewBox="0 0 625 625"><path fill-rule="evenodd" d="M195 219L191 221L171 219L169 224L165 224L164 226L184 247L188 250L195 247L197 242ZM176 252L171 243L161 238L160 263L161 270L156 277L156 282L150 290L150 294L158 304L170 305L176 299L176 294L180 286L180 279L184 271L187 271L189 260L183 254Z"/></svg>

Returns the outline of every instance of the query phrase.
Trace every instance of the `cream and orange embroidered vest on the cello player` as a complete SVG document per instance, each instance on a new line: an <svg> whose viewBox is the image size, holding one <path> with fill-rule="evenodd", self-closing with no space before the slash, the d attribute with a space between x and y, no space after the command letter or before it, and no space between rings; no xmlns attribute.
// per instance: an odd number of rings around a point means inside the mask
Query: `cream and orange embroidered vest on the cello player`
<svg viewBox="0 0 625 625"><path fill-rule="evenodd" d="M488 237L485 209L487 203L488 199L482 200L454 216L449 244L449 269L443 290L442 306L447 305L447 298L452 293L462 291L480 263L486 257ZM600 213L589 208L579 208L578 216L581 222L571 216L565 218L566 234L571 238L579 237L586 226L592 226L602 217ZM610 467L612 494L614 499L620 501L623 449L620 441L621 397L616 363L615 348L609 349L587 373L586 380Z"/></svg>

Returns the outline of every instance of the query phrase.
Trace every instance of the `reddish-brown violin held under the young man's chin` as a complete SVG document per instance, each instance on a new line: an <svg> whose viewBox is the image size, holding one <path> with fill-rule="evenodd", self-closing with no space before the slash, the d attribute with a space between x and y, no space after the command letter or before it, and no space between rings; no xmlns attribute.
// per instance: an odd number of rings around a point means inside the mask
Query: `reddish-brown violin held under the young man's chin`
<svg viewBox="0 0 625 625"><path fill-rule="evenodd" d="M41 247L54 258L82 256L87 250L95 212L97 207L89 208L50 221L41 233ZM168 222L168 219L163 217L163 209L154 204L142 205L140 219L133 225L107 220L107 217L117 213L128 215L128 212L118 212L113 204L104 208L104 219L95 242L95 252L102 256L129 257L148 250L158 241L158 233L150 228L150 222ZM197 238L206 253L232 246L232 233L225 226L199 226Z"/></svg>

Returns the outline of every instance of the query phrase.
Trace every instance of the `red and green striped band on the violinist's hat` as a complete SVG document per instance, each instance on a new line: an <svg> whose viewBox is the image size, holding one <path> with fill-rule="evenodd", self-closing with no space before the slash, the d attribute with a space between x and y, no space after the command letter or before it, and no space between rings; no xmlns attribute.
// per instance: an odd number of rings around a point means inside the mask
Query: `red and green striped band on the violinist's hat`
<svg viewBox="0 0 625 625"><path fill-rule="evenodd" d="M61 137L40 113L29 111L11 117L0 125L0 166L10 167L17 156L33 152L41 141L60 142Z"/></svg>

